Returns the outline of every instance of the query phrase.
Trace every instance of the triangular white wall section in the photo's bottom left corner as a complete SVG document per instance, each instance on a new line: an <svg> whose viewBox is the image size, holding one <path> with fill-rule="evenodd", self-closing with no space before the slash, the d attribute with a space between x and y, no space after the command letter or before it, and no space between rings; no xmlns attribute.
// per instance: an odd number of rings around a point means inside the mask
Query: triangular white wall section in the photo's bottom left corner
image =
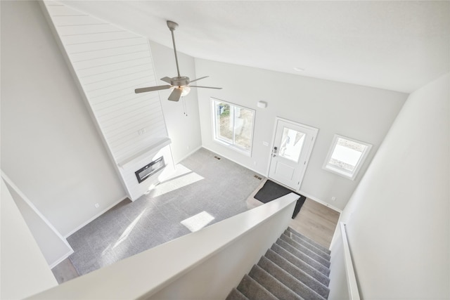
<svg viewBox="0 0 450 300"><path fill-rule="evenodd" d="M1 178L0 191L0 298L23 299L55 287L58 282Z"/></svg>

